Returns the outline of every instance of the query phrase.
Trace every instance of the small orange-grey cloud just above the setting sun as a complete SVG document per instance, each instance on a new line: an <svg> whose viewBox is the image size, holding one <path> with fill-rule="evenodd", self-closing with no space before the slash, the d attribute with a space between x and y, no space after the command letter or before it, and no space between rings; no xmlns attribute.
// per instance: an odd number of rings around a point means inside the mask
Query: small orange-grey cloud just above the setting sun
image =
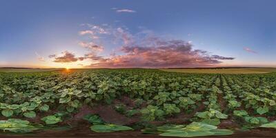
<svg viewBox="0 0 276 138"><path fill-rule="evenodd" d="M61 52L61 56L49 55L50 58L55 58L53 62L56 63L70 63L75 61L83 61L83 57L75 57L72 52L64 51Z"/></svg>

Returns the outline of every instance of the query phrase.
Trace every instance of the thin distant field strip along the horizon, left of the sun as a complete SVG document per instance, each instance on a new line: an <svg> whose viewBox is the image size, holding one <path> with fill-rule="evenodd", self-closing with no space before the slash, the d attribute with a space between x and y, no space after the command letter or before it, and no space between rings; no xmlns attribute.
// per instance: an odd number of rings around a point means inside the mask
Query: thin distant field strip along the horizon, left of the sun
<svg viewBox="0 0 276 138"><path fill-rule="evenodd" d="M45 72L62 70L57 68L0 68L0 72Z"/></svg>

